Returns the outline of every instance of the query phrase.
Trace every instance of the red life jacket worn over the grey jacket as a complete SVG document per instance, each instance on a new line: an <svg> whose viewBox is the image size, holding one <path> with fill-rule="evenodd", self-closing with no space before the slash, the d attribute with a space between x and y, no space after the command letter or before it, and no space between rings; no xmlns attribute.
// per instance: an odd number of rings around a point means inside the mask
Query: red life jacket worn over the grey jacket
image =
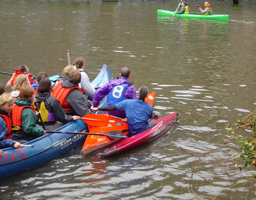
<svg viewBox="0 0 256 200"><path fill-rule="evenodd" d="M60 101L60 105L62 106L64 111L72 110L71 106L66 101L66 98L67 98L69 92L71 92L71 90L77 88L80 92L82 92L82 89L79 86L62 87L62 85L60 84L61 82L62 82L62 80L59 81L57 83L57 85L55 85L53 87L52 96L55 97L55 99L58 99Z"/></svg>

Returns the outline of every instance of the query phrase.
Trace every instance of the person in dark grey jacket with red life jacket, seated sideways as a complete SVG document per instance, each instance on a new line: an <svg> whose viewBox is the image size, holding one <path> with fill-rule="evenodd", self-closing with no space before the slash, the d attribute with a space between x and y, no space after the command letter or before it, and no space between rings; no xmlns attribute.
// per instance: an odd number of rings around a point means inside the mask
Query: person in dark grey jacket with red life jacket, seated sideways
<svg viewBox="0 0 256 200"><path fill-rule="evenodd" d="M91 113L87 100L83 98L81 87L81 73L73 69L68 74L68 79L60 80L54 87L52 96L60 101L66 115L83 117Z"/></svg>

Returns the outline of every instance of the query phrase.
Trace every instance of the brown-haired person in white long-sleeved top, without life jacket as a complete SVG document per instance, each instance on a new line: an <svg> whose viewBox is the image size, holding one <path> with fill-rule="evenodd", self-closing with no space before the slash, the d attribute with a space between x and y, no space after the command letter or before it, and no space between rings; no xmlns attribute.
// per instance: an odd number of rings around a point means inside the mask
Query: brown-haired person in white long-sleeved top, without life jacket
<svg viewBox="0 0 256 200"><path fill-rule="evenodd" d="M85 73L84 67L84 58L78 57L75 59L75 67L78 71L81 73L81 83L79 83L79 86L82 88L85 94L87 94L87 98L92 101L93 95L95 93L95 89L92 86L89 76Z"/></svg>

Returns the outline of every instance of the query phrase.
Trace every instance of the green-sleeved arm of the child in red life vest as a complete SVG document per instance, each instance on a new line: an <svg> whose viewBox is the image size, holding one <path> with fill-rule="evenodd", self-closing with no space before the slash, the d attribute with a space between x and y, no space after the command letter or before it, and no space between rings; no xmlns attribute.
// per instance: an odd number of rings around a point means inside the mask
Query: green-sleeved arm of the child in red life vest
<svg viewBox="0 0 256 200"><path fill-rule="evenodd" d="M25 133L40 137L44 134L44 129L41 126L36 126L36 115L31 108L24 108L21 114L22 129Z"/></svg>

